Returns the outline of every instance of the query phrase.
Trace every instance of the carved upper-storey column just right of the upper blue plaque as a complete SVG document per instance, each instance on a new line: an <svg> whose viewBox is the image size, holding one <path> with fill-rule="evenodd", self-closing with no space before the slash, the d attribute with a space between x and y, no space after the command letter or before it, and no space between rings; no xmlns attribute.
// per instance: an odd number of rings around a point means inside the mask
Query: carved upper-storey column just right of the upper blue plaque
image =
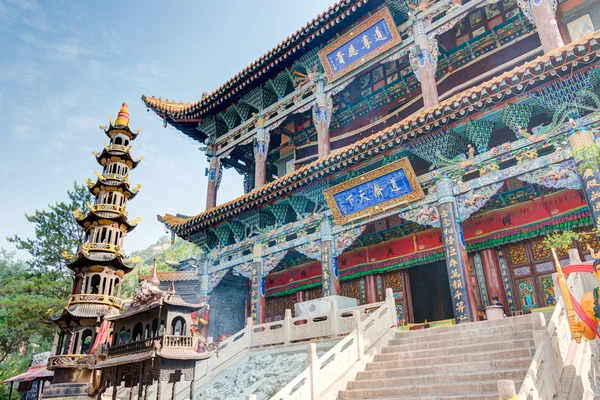
<svg viewBox="0 0 600 400"><path fill-rule="evenodd" d="M424 108L433 107L439 103L435 72L437 69L438 47L437 40L429 39L425 34L425 24L417 21L413 25L414 47L409 53L410 63L419 82L423 94Z"/></svg>

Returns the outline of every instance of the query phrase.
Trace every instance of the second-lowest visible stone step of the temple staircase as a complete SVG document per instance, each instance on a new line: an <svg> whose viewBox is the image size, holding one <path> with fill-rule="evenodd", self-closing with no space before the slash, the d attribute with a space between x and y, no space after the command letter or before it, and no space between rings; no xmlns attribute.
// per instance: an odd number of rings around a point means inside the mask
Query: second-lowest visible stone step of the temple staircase
<svg viewBox="0 0 600 400"><path fill-rule="evenodd" d="M380 378L380 379L358 379L348 383L348 389L374 389L380 387L398 387L404 385L427 385L431 382L435 383L459 383L469 381L493 381L501 379L510 379L513 381L522 381L525 378L527 370L525 368L512 368L504 370L487 370L487 371L474 371L456 373L449 371L446 374L438 375L416 375L416 376L402 376L396 375L393 378Z"/></svg>

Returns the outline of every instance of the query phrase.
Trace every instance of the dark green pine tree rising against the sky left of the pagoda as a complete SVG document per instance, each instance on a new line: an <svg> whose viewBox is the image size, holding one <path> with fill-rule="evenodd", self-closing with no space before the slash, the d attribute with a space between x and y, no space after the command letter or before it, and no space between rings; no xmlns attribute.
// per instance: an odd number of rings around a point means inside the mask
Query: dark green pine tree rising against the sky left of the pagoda
<svg viewBox="0 0 600 400"><path fill-rule="evenodd" d="M19 250L25 250L31 258L27 264L33 271L46 272L57 270L67 273L63 252L77 254L84 232L75 222L74 210L84 211L86 203L92 203L94 197L85 185L73 184L73 190L67 191L68 202L50 204L47 210L36 210L25 218L35 225L35 237L21 238L18 235L8 237Z"/></svg>

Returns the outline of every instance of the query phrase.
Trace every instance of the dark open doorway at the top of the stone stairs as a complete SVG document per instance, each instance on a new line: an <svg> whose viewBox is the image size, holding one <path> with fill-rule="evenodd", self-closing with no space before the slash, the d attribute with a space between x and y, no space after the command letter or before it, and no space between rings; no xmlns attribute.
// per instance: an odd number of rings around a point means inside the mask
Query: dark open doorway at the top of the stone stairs
<svg viewBox="0 0 600 400"><path fill-rule="evenodd" d="M408 269L415 323L454 318L446 261Z"/></svg>

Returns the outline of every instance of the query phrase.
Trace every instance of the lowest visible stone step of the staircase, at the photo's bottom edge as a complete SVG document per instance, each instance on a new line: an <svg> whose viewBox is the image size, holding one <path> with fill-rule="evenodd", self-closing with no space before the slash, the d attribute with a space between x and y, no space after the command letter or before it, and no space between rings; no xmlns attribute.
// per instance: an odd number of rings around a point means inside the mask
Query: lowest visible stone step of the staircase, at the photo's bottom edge
<svg viewBox="0 0 600 400"><path fill-rule="evenodd" d="M521 386L521 381L515 382L516 387ZM346 399L368 399L381 397L394 397L398 394L413 395L413 396L448 396L458 395L461 393L492 393L497 389L497 381L476 381L476 382L461 382L461 383L435 383L430 382L424 385L404 385L402 387L380 387L376 389L356 389L343 390L340 392L339 398Z"/></svg>

